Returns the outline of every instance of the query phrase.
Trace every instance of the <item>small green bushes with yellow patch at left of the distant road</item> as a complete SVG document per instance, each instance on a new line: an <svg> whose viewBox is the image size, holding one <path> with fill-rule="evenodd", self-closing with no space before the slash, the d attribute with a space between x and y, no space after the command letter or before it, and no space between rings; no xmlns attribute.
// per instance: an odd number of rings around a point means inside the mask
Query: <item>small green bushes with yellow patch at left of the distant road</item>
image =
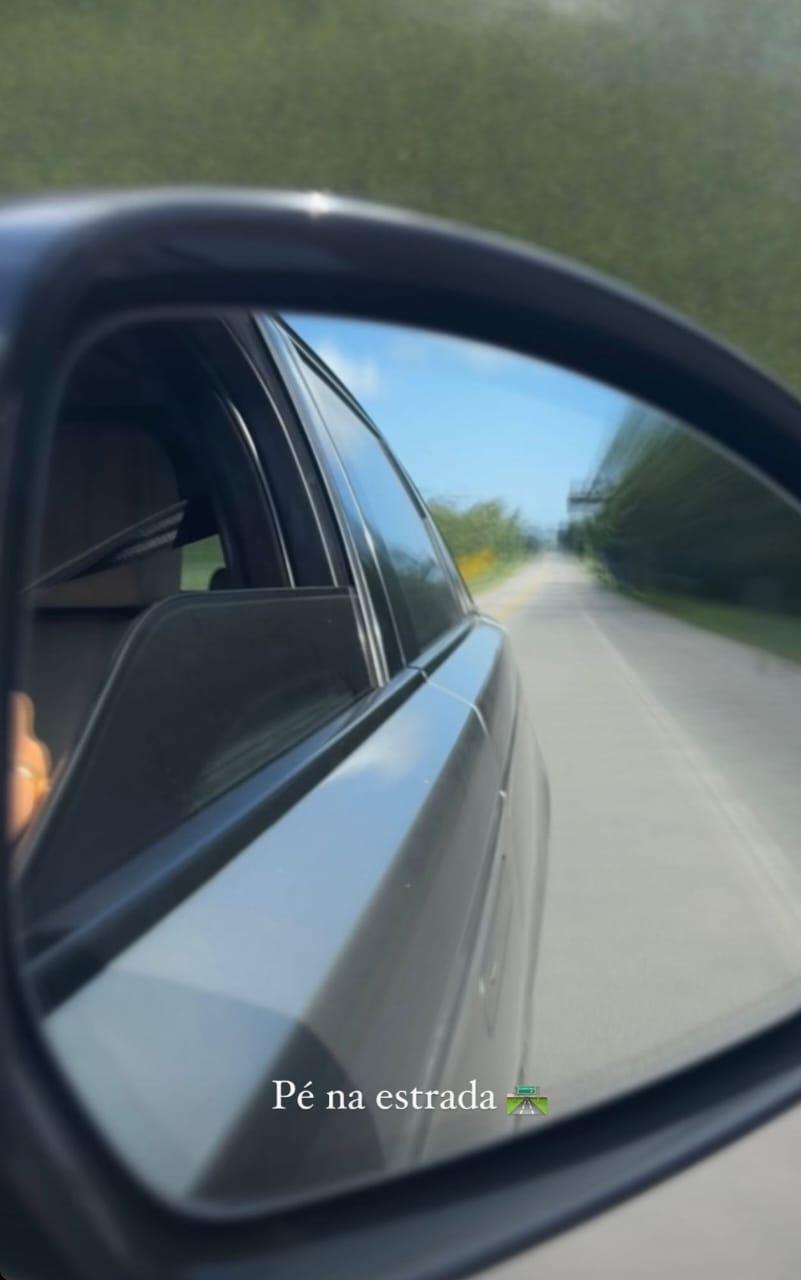
<svg viewBox="0 0 801 1280"><path fill-rule="evenodd" d="M508 577L539 548L539 540L521 518L499 499L459 507L444 498L429 502L429 511L472 590Z"/></svg>

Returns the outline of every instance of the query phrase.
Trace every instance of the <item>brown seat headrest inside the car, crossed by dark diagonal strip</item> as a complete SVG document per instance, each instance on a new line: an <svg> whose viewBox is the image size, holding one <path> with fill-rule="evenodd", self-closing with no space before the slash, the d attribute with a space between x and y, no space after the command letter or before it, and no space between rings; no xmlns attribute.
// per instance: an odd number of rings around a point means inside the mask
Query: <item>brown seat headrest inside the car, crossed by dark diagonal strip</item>
<svg viewBox="0 0 801 1280"><path fill-rule="evenodd" d="M67 422L54 442L37 577L179 498L169 454L146 430ZM44 590L44 609L145 608L178 591L180 553L166 548Z"/></svg>

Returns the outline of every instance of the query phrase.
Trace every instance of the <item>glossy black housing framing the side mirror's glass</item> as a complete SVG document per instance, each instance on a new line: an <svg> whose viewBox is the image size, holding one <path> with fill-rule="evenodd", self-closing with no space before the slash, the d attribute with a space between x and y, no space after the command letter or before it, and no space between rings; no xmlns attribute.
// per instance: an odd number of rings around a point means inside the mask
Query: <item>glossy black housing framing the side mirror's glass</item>
<svg viewBox="0 0 801 1280"><path fill-rule="evenodd" d="M166 191L8 206L0 262L3 744L54 406L70 361L123 319L313 311L495 344L686 420L801 499L801 404L787 390L655 303L505 239L319 193ZM9 1257L15 1239L28 1256L38 1233L47 1262L68 1275L458 1275L667 1176L801 1096L796 1015L714 1062L509 1146L239 1221L179 1212L136 1183L74 1103L18 983L6 877L0 886Z"/></svg>

